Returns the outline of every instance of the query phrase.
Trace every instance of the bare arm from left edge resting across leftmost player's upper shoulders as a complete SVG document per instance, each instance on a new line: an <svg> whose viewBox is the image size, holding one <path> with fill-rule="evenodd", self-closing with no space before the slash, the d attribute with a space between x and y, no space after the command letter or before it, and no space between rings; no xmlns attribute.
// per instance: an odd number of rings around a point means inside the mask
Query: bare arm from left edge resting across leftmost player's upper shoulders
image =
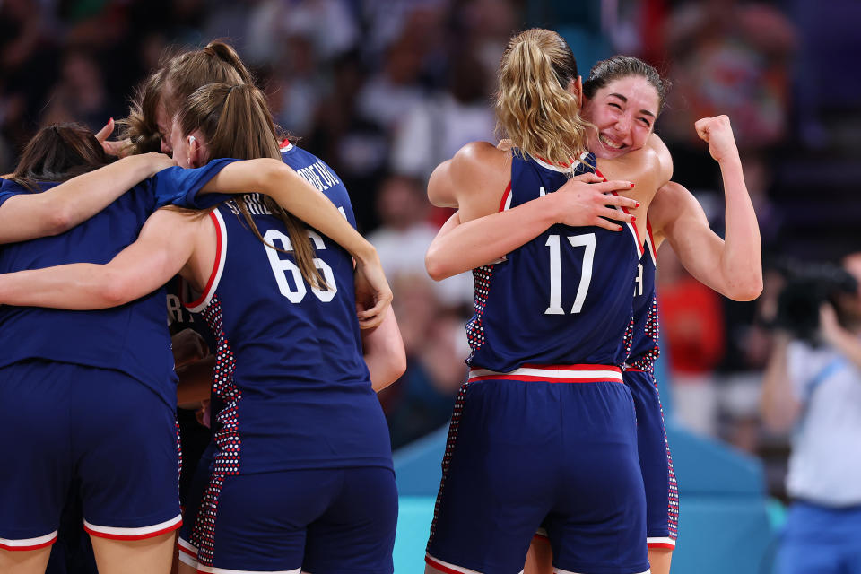
<svg viewBox="0 0 861 574"><path fill-rule="evenodd" d="M37 194L10 197L0 206L0 243L57 235L72 229L122 196L130 187L175 165L162 153L115 161Z"/></svg>

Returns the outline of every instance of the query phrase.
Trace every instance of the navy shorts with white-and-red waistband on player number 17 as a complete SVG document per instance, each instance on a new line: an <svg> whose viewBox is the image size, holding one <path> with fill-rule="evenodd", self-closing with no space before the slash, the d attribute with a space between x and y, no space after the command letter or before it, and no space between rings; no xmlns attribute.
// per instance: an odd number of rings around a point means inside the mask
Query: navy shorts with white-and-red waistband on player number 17
<svg viewBox="0 0 861 574"><path fill-rule="evenodd" d="M645 572L646 501L620 371L528 371L474 371L461 388L426 561L515 574L544 524L559 571Z"/></svg>

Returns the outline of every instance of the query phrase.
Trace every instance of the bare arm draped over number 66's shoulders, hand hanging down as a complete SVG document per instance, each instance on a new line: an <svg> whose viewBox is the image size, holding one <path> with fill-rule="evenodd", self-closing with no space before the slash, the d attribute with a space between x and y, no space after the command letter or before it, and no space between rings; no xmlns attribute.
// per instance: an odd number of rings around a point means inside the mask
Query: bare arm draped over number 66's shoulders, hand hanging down
<svg viewBox="0 0 861 574"><path fill-rule="evenodd" d="M235 161L225 166L201 193L258 192L272 197L285 210L349 251L356 259L356 299L362 328L379 325L392 300L392 290L379 263L377 249L352 229L326 196L285 165L260 159Z"/></svg>

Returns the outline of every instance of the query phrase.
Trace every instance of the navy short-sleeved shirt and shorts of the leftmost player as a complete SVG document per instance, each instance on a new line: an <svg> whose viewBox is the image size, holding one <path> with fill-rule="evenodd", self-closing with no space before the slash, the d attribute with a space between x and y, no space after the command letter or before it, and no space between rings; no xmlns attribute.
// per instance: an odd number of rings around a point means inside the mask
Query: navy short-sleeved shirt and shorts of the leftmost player
<svg viewBox="0 0 861 574"><path fill-rule="evenodd" d="M154 209L187 202L196 174L181 172L162 171L63 234L0 247L0 273L107 263ZM4 180L0 208L26 193ZM179 526L164 297L160 289L93 311L0 306L0 433L9 446L0 465L0 547L52 544L70 484L92 535L138 539Z"/></svg>

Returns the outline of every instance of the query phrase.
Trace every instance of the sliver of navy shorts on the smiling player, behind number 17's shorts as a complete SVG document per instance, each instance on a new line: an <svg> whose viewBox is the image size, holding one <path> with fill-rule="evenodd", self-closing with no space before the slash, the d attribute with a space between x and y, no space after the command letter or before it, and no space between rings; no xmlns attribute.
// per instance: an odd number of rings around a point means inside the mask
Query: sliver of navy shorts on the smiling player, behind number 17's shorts
<svg viewBox="0 0 861 574"><path fill-rule="evenodd" d="M672 550L678 536L679 491L666 442L661 398L651 373L629 369L624 378L637 411L639 466L646 487L646 540L649 548Z"/></svg>

